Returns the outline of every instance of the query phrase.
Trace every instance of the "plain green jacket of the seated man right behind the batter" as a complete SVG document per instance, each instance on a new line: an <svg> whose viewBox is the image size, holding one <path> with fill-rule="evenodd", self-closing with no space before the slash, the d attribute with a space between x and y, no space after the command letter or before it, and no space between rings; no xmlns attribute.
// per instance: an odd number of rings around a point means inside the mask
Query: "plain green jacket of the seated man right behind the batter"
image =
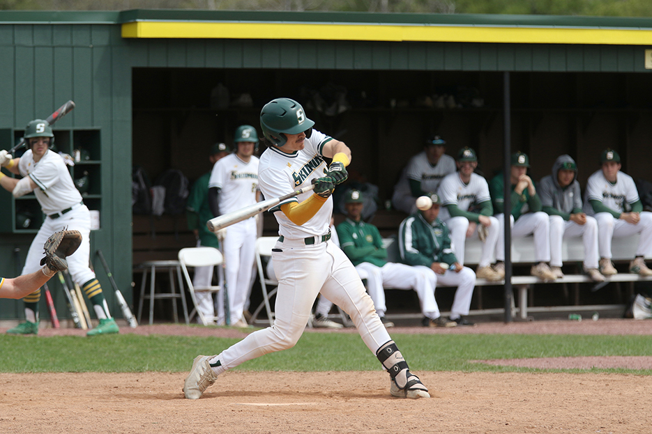
<svg viewBox="0 0 652 434"><path fill-rule="evenodd" d="M353 265L363 262L382 267L387 263L387 251L383 247L383 238L373 224L354 222L346 219L336 228L340 247L349 256Z"/></svg>

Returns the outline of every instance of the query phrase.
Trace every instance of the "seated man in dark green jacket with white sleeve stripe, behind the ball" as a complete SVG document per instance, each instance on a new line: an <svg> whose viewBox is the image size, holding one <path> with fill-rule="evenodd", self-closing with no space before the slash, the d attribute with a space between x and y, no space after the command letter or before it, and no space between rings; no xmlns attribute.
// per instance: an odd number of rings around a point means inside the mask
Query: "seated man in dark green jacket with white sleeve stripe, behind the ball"
<svg viewBox="0 0 652 434"><path fill-rule="evenodd" d="M465 315L469 314L476 274L471 268L463 267L450 248L448 227L439 218L441 201L437 194L429 194L430 208L418 210L404 219L398 230L401 260L416 270L425 271L430 277L432 287L456 286L450 318L439 315L437 302L423 307L422 324L425 327L453 327L473 325Z"/></svg>

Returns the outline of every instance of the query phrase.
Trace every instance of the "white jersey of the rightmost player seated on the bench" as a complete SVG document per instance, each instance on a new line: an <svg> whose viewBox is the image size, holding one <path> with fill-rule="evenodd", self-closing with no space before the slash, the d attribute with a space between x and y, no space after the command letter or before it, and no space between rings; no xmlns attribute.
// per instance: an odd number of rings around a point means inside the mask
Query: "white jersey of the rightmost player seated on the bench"
<svg viewBox="0 0 652 434"><path fill-rule="evenodd" d="M602 169L589 176L584 195L584 212L595 215L589 201L600 201L602 205L618 212L628 212L628 204L639 201L636 184L631 176L621 171L616 175L616 183L607 181Z"/></svg>

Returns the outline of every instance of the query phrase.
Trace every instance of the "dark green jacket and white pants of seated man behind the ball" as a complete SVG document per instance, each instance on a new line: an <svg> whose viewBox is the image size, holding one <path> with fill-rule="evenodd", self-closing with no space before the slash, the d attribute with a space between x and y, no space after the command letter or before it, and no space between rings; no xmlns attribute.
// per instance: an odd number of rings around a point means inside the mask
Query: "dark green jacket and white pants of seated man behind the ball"
<svg viewBox="0 0 652 434"><path fill-rule="evenodd" d="M414 268L427 270L432 287L455 286L455 299L450 308L450 316L464 316L469 314L473 287L476 285L476 273L471 268L463 267L460 272L446 270L443 274L435 274L430 268L432 263L446 263L453 265L457 262L453 249L450 248L448 227L439 218L432 224L423 218L421 212L416 212L401 222L398 229L399 251L401 260ZM439 307L434 304L428 318L439 317Z"/></svg>

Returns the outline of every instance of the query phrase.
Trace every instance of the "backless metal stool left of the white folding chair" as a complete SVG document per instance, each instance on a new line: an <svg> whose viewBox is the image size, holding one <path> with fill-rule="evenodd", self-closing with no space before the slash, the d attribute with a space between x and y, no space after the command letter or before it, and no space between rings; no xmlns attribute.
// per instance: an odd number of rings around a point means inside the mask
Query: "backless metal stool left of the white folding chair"
<svg viewBox="0 0 652 434"><path fill-rule="evenodd" d="M183 278L181 277L181 263L179 261L145 261L138 265L142 268L143 277L140 284L140 304L138 306L138 322L142 316L143 300L149 298L149 325L154 321L154 300L156 299L171 299L172 300L172 313L174 315L174 322L179 323L179 315L176 313L176 299L181 298L181 305L183 306L183 316L185 316L185 323L190 324L188 320L188 307L185 305L185 293L183 292ZM174 285L174 270L176 270L176 278L179 281L179 293L176 292ZM149 283L149 295L145 294L145 282L147 281L147 272L151 273ZM156 288L156 273L167 271L169 273L170 290L169 293L155 293Z"/></svg>

